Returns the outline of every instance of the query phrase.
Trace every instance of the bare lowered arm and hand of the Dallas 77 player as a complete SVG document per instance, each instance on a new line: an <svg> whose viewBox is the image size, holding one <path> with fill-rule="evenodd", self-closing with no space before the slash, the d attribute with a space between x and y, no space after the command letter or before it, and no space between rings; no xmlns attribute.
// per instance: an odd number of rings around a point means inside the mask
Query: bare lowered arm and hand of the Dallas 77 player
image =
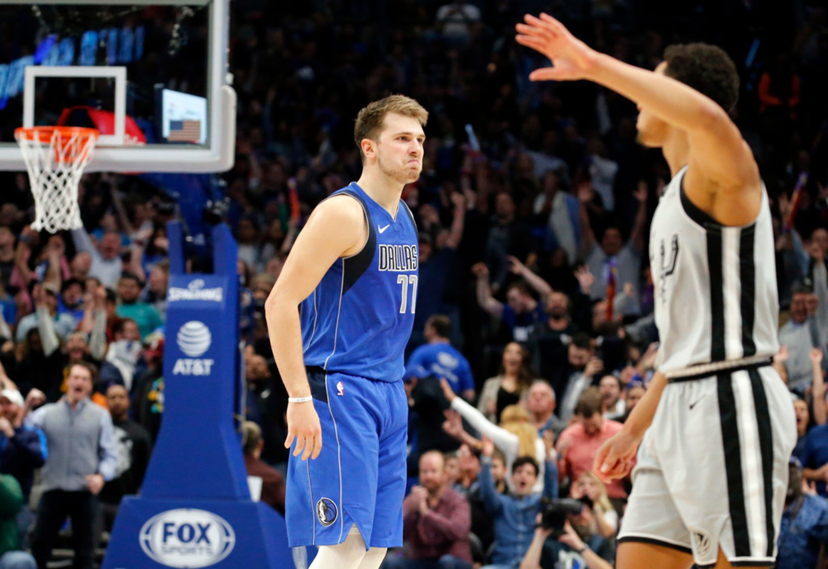
<svg viewBox="0 0 828 569"><path fill-rule="evenodd" d="M359 252L367 238L365 213L354 198L337 196L320 203L296 238L282 275L267 297L267 332L273 357L291 397L310 396L297 307L319 285L330 265L339 257ZM288 404L287 431L286 448L297 438L295 456L303 448L302 460L319 455L322 431L313 401Z"/></svg>

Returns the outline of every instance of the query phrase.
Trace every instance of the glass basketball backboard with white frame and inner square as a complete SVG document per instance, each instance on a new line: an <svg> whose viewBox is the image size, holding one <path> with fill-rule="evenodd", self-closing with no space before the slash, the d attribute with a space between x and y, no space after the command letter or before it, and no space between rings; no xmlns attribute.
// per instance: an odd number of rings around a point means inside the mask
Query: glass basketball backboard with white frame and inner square
<svg viewBox="0 0 828 569"><path fill-rule="evenodd" d="M14 129L99 129L89 171L220 172L233 164L229 0L0 0L0 169Z"/></svg>

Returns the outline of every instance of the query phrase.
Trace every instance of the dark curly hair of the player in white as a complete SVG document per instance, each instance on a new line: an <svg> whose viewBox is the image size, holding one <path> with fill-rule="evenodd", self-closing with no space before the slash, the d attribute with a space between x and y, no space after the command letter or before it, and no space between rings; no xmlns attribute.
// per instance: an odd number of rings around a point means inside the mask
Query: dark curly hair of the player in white
<svg viewBox="0 0 828 569"><path fill-rule="evenodd" d="M730 112L739 100L739 71L730 56L709 43L667 46L665 75L691 86Z"/></svg>

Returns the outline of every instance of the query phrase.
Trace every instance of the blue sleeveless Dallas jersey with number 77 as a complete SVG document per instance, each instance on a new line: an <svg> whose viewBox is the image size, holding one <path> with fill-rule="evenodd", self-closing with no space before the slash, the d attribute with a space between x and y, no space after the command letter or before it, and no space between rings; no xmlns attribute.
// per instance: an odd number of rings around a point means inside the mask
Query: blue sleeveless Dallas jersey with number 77
<svg viewBox="0 0 828 569"><path fill-rule="evenodd" d="M414 217L400 201L397 220L356 182L347 194L363 206L368 242L338 259L301 304L306 366L397 382L414 325L419 255Z"/></svg>

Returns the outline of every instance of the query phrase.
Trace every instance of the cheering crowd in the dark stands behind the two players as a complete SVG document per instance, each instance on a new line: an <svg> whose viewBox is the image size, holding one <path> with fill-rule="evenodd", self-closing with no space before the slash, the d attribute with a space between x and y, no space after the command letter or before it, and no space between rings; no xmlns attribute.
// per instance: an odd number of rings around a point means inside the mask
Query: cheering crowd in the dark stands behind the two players
<svg viewBox="0 0 828 569"><path fill-rule="evenodd" d="M543 9L638 66L654 68L671 43L709 41L739 68L734 119L777 243L774 366L799 435L777 567L816 567L828 543L824 7L446 2L232 4L238 141L221 178L249 309L241 444L262 499L283 511L287 460L264 299L315 204L359 178L357 111L403 93L431 115L421 179L403 193L420 231L404 378L411 484L406 546L385 567L611 567L631 482L602 484L592 460L652 378L648 229L670 175L636 143L637 111L619 95L527 80L544 62L513 41L513 23ZM180 212L161 187L92 173L84 228L38 233L25 175L3 182L0 568L46 567L67 517L75 567L92 567L164 413L164 223Z"/></svg>

